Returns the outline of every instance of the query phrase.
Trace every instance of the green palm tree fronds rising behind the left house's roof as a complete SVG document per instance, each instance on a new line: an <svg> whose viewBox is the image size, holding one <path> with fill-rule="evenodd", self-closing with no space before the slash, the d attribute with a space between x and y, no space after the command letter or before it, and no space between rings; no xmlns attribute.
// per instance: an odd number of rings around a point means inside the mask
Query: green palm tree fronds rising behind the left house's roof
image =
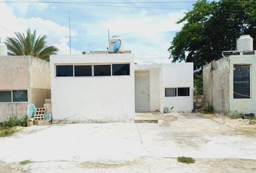
<svg viewBox="0 0 256 173"><path fill-rule="evenodd" d="M16 37L7 37L5 44L10 56L35 56L49 61L49 56L55 55L59 49L55 46L46 46L46 35L36 37L36 32L27 30L27 35L14 32Z"/></svg>

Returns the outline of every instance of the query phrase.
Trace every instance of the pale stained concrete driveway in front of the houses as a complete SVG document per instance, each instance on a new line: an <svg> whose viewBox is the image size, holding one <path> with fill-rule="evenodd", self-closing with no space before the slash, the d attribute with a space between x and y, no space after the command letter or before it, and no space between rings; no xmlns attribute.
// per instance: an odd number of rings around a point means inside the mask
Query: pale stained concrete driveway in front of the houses
<svg viewBox="0 0 256 173"><path fill-rule="evenodd" d="M192 114L155 117L25 128L0 138L0 172L256 172L255 136Z"/></svg>

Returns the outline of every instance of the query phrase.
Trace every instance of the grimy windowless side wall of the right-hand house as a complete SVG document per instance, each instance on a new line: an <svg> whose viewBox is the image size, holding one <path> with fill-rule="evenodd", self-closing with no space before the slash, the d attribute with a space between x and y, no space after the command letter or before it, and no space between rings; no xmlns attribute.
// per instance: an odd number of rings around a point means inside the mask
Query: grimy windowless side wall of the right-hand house
<svg viewBox="0 0 256 173"><path fill-rule="evenodd" d="M216 112L229 112L227 88L229 88L229 58L221 58L203 66L205 103L213 105Z"/></svg>

